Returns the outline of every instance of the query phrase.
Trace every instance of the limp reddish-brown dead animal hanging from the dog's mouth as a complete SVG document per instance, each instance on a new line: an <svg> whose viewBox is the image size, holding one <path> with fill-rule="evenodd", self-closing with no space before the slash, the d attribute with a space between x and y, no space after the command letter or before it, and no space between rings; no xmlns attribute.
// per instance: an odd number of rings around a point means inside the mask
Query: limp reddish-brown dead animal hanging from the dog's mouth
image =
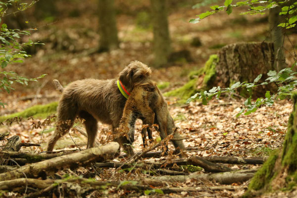
<svg viewBox="0 0 297 198"><path fill-rule="evenodd" d="M183 141L169 114L167 102L163 99L158 87L151 82L135 86L126 102L118 130L126 135L128 142L134 142L134 126L138 117L144 117L149 126L152 126L153 123L158 124L159 127L156 129L159 131L161 139L173 134L171 142L176 148L176 153L185 150ZM151 137L150 131L148 134ZM120 135L120 138L123 135ZM145 144L146 131L142 130L142 136ZM128 153L132 153L129 149L132 148L128 148ZM180 156L183 156L183 153L180 153Z"/></svg>

